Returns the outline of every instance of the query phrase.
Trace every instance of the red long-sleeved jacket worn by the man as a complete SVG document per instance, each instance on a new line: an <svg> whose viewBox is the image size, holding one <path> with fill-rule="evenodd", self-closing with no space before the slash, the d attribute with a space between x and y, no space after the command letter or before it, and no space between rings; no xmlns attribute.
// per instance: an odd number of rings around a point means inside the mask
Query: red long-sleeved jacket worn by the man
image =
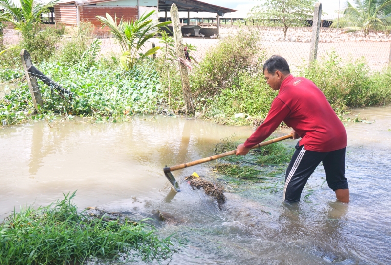
<svg viewBox="0 0 391 265"><path fill-rule="evenodd" d="M322 91L304 77L286 77L265 121L244 143L252 147L264 141L284 122L302 140L305 150L330 152L346 147L346 131Z"/></svg>

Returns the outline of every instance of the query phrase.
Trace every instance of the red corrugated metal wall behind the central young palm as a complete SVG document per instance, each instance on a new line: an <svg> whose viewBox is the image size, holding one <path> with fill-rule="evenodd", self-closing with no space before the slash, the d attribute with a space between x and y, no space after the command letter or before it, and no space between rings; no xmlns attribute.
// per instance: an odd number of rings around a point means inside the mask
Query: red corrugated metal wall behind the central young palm
<svg viewBox="0 0 391 265"><path fill-rule="evenodd" d="M95 34L100 36L106 36L109 28L102 29L102 23L96 18L96 16L106 17L106 13L109 13L113 18L124 18L125 20L137 19L137 6L125 7L125 6L79 6L80 21L91 22L95 27Z"/></svg>

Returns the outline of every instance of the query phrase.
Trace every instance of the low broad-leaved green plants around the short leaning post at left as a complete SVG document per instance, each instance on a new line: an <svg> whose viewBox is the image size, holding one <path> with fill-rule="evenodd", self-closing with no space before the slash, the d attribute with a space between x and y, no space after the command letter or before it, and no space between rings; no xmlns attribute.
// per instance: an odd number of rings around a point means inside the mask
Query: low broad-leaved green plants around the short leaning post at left
<svg viewBox="0 0 391 265"><path fill-rule="evenodd" d="M153 113L162 102L158 72L152 59L139 61L131 71L106 67L112 59L96 59L91 45L75 65L42 62L36 67L64 88L72 91L72 100L61 98L39 81L43 107L34 113L31 94L22 70L1 69L0 81L18 86L0 99L0 121L3 125L27 119L52 117L53 114L91 116L96 121L127 119L134 113Z"/></svg>

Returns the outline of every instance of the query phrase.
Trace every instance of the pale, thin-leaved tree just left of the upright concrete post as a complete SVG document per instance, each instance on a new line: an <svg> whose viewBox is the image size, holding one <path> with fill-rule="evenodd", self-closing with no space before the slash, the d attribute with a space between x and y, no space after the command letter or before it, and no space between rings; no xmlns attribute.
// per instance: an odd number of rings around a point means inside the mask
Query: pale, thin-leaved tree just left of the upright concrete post
<svg viewBox="0 0 391 265"><path fill-rule="evenodd" d="M281 26L285 40L288 28L308 26L314 4L315 0L265 0L251 9L247 19L258 25Z"/></svg>

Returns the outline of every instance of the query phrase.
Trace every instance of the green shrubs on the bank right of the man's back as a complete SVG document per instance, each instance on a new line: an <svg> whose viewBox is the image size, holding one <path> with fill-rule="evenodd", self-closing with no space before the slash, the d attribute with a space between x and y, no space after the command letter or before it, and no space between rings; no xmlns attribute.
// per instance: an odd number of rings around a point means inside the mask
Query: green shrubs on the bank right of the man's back
<svg viewBox="0 0 391 265"><path fill-rule="evenodd" d="M331 53L328 60L304 69L303 76L322 90L336 112L391 100L391 86L387 82L390 70L371 73L364 59L342 62Z"/></svg>

